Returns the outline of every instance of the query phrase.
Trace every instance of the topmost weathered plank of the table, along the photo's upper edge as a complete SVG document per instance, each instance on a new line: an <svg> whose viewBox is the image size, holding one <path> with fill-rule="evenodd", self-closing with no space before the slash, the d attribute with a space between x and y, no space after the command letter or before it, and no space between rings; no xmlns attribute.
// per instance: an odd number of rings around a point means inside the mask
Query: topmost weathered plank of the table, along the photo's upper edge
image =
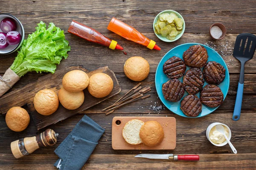
<svg viewBox="0 0 256 170"><path fill-rule="evenodd" d="M20 19L27 33L34 31L40 20L54 22L67 32L71 20L78 20L102 33L109 32L107 26L112 17L134 26L143 33L152 32L154 17L165 9L182 14L186 22L186 33L207 33L216 22L224 23L228 33L256 33L256 4L253 1L207 0L207 1L170 1L168 0L2 0L8 4L1 9ZM164 8L165 6L167 8ZM20 6L13 10L13 6ZM239 8L234 8L239 7ZM99 12L100 11L100 12ZM242 21L242 22L237 22ZM236 23L236 24L234 24Z"/></svg>

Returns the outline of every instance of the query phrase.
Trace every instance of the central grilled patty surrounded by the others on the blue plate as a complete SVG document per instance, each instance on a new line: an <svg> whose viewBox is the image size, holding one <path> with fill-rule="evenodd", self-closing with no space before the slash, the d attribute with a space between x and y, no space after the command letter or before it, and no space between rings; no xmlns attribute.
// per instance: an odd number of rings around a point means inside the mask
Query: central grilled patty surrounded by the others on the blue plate
<svg viewBox="0 0 256 170"><path fill-rule="evenodd" d="M203 72L200 68L190 68L183 77L183 85L189 94L197 94L204 85Z"/></svg>

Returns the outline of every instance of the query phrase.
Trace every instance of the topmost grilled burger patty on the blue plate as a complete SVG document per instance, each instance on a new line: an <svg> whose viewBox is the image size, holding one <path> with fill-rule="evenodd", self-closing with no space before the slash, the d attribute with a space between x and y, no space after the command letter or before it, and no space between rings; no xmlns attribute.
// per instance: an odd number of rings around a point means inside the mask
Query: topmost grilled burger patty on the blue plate
<svg viewBox="0 0 256 170"><path fill-rule="evenodd" d="M187 66L201 68L208 60L207 50L202 45L192 45L183 53Z"/></svg>

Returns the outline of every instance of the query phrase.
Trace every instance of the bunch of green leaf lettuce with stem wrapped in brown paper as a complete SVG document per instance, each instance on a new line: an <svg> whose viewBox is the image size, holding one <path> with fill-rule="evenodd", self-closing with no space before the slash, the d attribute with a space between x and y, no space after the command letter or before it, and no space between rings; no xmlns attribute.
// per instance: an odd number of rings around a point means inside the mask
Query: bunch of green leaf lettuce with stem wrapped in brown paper
<svg viewBox="0 0 256 170"><path fill-rule="evenodd" d="M28 35L11 67L0 78L0 96L29 71L54 73L61 59L70 51L64 31L49 23L40 22L36 31ZM12 72L13 71L13 72ZM15 75L16 74L16 75Z"/></svg>

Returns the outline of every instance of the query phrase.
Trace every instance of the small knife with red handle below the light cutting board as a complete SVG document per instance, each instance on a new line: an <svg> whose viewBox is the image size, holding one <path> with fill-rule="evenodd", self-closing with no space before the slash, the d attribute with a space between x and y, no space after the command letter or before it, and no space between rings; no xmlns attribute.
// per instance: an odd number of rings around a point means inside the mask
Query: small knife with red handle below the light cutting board
<svg viewBox="0 0 256 170"><path fill-rule="evenodd" d="M143 153L134 156L135 158L148 158L148 159L172 159L175 161L199 161L199 155L173 155L173 154L148 154Z"/></svg>

